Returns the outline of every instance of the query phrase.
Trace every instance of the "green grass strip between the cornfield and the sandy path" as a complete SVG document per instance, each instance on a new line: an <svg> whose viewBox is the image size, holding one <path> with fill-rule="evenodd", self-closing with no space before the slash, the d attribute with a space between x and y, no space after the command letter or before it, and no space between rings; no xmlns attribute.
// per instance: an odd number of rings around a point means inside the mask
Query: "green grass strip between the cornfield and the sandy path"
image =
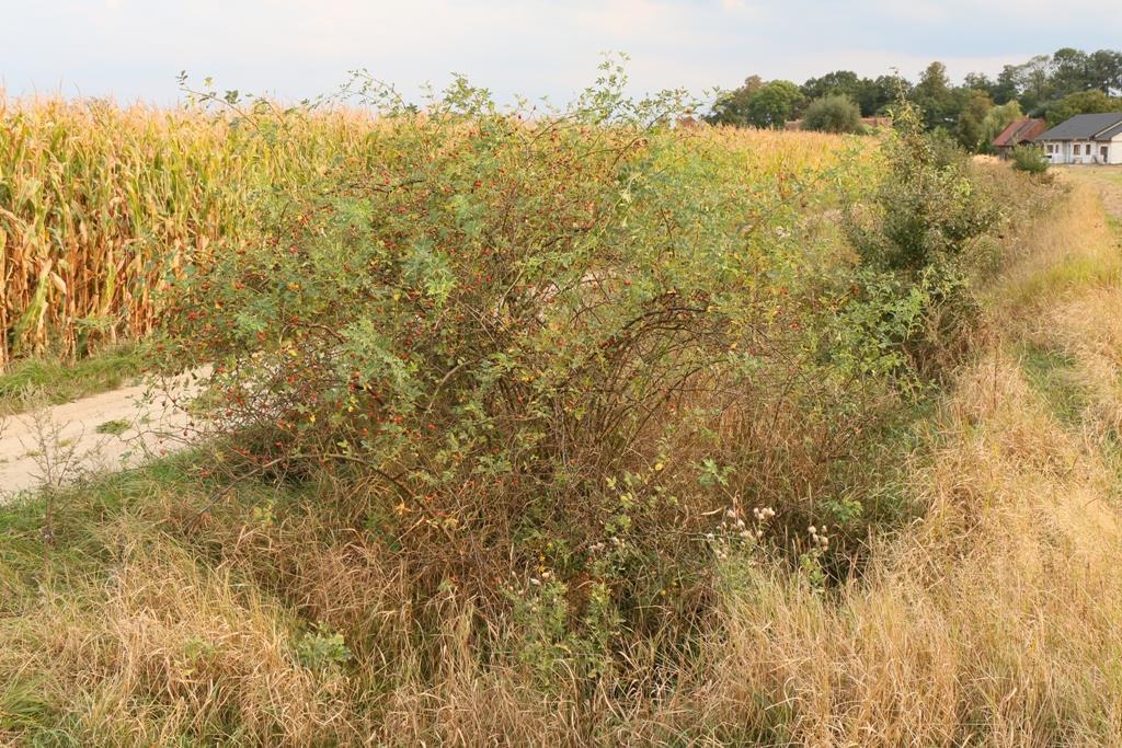
<svg viewBox="0 0 1122 748"><path fill-rule="evenodd" d="M135 345L105 350L76 362L52 358L18 361L0 375L0 415L117 389L136 379L142 369L144 358Z"/></svg>

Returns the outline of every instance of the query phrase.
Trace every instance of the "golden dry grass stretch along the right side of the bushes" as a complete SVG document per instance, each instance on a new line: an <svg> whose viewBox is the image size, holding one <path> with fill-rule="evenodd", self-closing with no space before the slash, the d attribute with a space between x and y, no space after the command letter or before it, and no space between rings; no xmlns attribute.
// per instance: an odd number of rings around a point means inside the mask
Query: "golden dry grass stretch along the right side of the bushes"
<svg viewBox="0 0 1122 748"><path fill-rule="evenodd" d="M782 704L782 733L806 745L1122 740L1118 237L1085 190L1028 237L999 284L994 345L913 471L923 519L837 599L782 575L734 594L702 723ZM1063 371L1033 376L1029 342Z"/></svg>

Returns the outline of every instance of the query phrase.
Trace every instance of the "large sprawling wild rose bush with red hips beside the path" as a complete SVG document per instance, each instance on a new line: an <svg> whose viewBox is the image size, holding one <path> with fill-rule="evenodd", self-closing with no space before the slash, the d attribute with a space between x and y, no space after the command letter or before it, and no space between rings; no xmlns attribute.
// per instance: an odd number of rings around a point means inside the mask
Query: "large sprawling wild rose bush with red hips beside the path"
<svg viewBox="0 0 1122 748"><path fill-rule="evenodd" d="M716 541L820 551L828 525L840 560L895 509L902 359L853 331L911 322L820 220L858 161L803 133L763 158L622 91L609 70L562 112L463 81L389 108L176 285L162 345L215 363L223 464L373 497L353 521L419 598L544 579L561 628L640 629L700 609Z"/></svg>

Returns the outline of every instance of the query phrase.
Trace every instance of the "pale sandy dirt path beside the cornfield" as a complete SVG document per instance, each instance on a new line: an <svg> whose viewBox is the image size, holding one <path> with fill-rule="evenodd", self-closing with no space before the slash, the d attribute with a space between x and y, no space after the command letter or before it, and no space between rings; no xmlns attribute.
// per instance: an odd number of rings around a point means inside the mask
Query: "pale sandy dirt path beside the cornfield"
<svg viewBox="0 0 1122 748"><path fill-rule="evenodd" d="M84 475L136 467L185 444L191 417L176 403L205 371L162 388L126 387L15 416L0 416L0 499Z"/></svg>

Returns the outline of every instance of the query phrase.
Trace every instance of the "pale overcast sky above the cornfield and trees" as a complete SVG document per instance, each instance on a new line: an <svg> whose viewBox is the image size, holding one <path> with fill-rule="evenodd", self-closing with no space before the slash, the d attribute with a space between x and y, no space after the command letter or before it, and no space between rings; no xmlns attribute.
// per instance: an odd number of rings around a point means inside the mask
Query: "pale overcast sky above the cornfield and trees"
<svg viewBox="0 0 1122 748"><path fill-rule="evenodd" d="M504 100L568 100L599 54L636 92L802 82L838 68L954 77L1072 46L1122 46L1116 0L0 0L9 94L169 103L176 74L300 99L366 67L413 95L452 72Z"/></svg>

